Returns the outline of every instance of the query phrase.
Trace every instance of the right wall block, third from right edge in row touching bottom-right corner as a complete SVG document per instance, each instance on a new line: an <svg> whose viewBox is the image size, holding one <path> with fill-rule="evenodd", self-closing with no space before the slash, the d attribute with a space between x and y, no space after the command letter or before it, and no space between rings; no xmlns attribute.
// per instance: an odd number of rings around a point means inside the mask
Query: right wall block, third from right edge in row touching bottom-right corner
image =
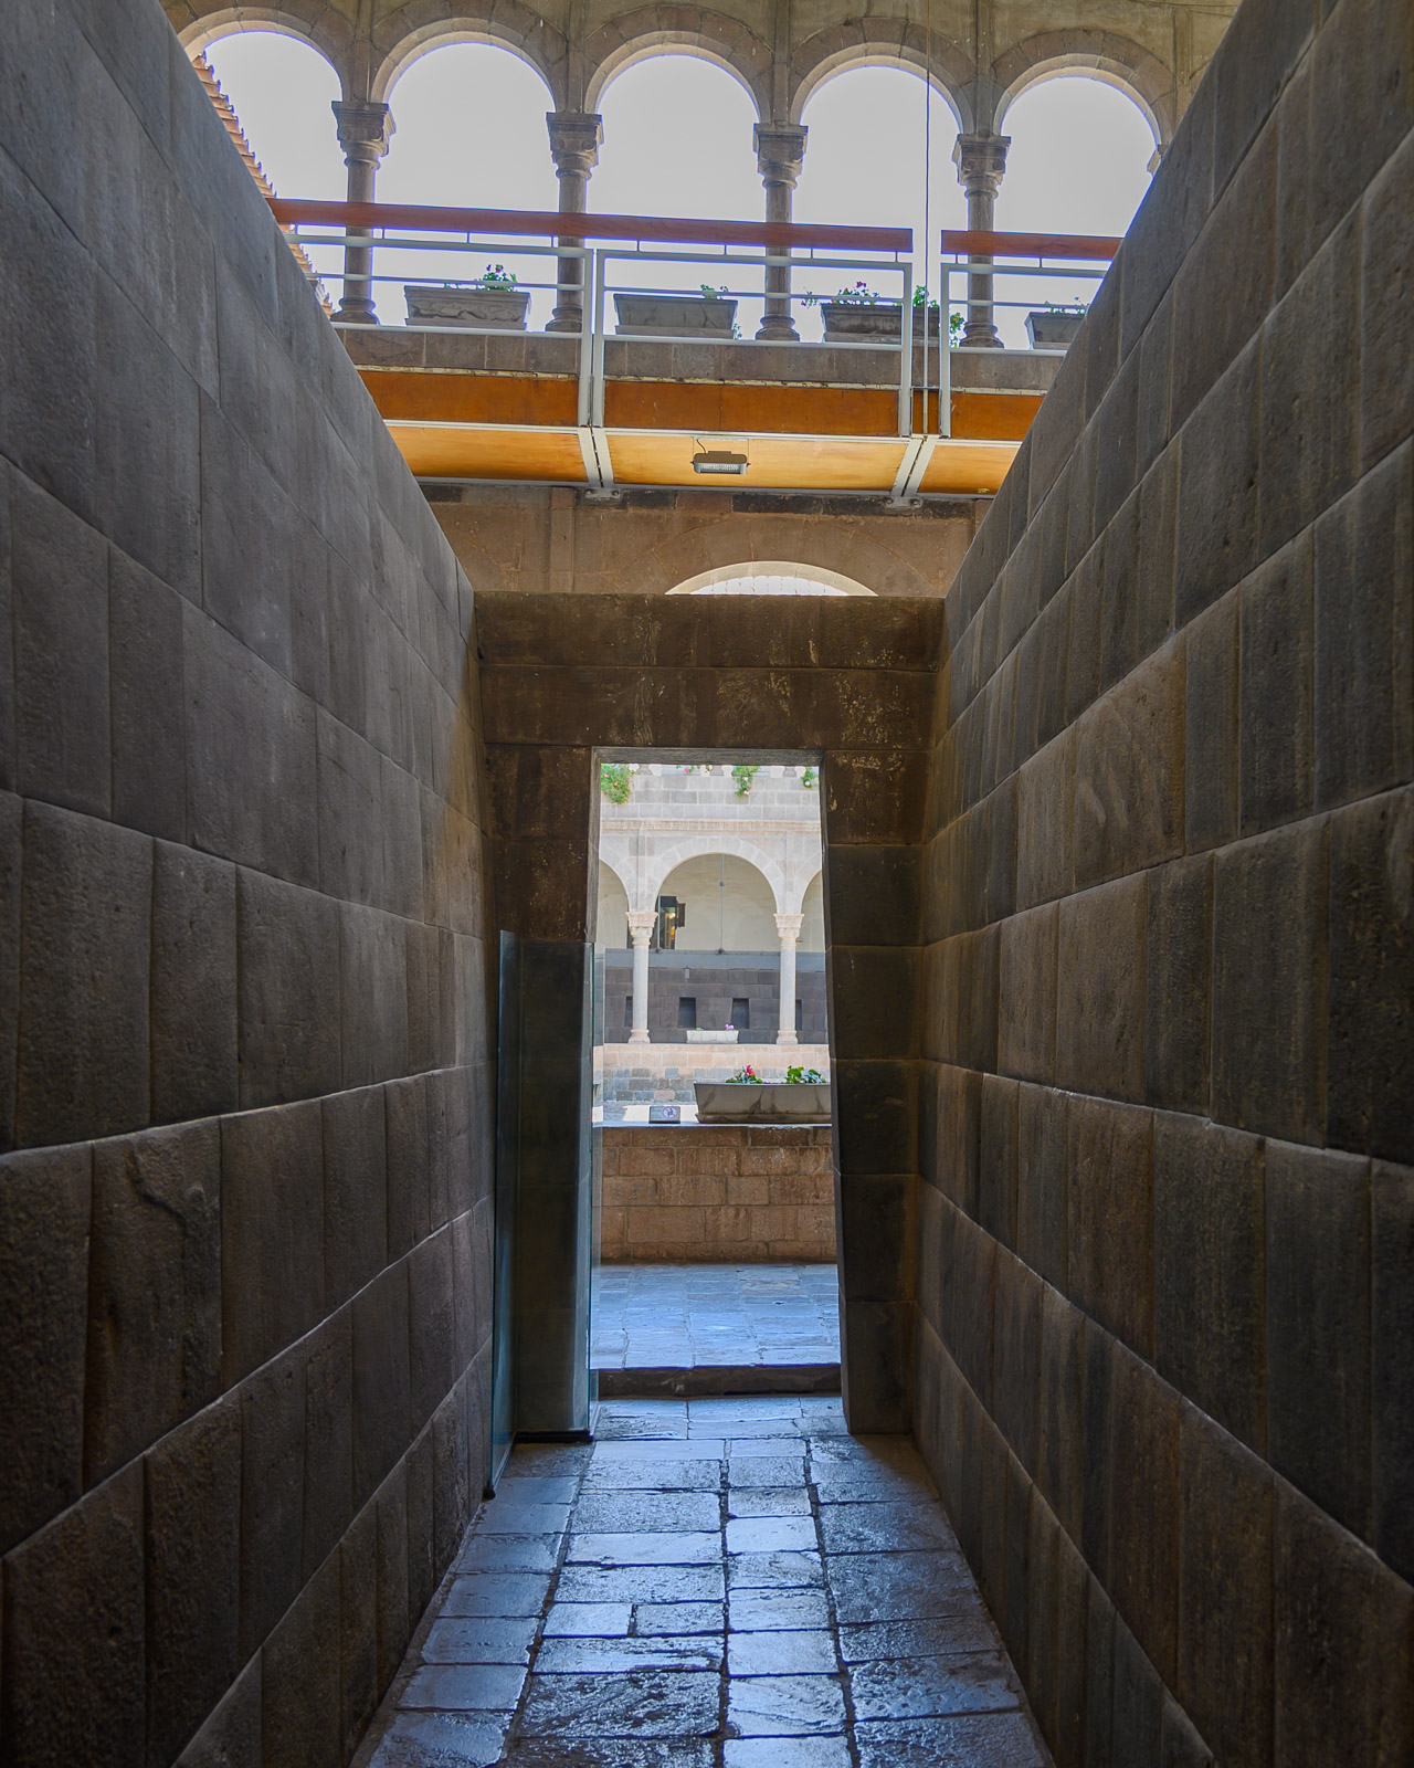
<svg viewBox="0 0 1414 1768"><path fill-rule="evenodd" d="M1271 1763L1273 1476L1184 1404L1174 1688L1218 1761Z"/></svg>

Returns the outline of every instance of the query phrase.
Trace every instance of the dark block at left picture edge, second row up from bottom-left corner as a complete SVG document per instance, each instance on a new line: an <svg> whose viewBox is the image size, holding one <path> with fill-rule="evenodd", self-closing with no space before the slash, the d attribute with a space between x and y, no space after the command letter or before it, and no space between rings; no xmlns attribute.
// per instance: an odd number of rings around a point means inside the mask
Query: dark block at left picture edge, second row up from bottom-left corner
<svg viewBox="0 0 1414 1768"><path fill-rule="evenodd" d="M0 1552L83 1490L87 1144L0 1160Z"/></svg>

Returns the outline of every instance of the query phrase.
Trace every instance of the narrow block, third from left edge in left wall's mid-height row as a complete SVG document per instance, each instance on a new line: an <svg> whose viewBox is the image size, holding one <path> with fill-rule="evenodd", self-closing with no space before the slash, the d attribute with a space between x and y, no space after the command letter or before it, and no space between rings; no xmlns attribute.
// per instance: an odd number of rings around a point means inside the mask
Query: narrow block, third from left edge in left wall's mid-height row
<svg viewBox="0 0 1414 1768"><path fill-rule="evenodd" d="M152 865L152 1116L235 1110L235 866L157 842Z"/></svg>

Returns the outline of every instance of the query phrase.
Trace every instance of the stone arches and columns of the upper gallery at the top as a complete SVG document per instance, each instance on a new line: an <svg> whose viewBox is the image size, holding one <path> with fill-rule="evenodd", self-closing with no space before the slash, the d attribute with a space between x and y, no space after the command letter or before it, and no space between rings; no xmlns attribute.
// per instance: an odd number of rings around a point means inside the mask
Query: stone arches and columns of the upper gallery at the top
<svg viewBox="0 0 1414 1768"><path fill-rule="evenodd" d="M421 57L447 42L486 42L509 50L539 72L550 97L546 126L559 179L562 214L582 214L599 159L604 90L626 67L652 55L695 55L741 81L756 111L756 168L765 191L765 219L790 221L804 164L804 108L827 81L854 67L914 67L939 92L958 126L954 164L967 196L967 225L990 230L1006 173L1006 113L1034 83L1082 72L1124 90L1152 129L1156 157L1216 48L1235 0L1195 14L1191 7L1119 0L1126 30L1087 23L1085 0L1052 0L1048 28L1006 41L990 4L933 0L928 25L907 16L847 16L794 34L788 0L739 0L737 11L700 5L642 5L596 16L583 27L562 23L521 0L285 0L267 5L205 5L168 0L166 12L184 46L196 55L235 30L276 30L318 50L339 78L334 103L339 149L348 168L348 200L373 202L378 164L394 127L396 85ZM981 25L986 16L986 28ZM557 14L562 18L562 14ZM1034 21L1036 12L1029 12ZM1214 28L1216 27L1216 28ZM566 260L567 262L567 260ZM366 286L346 288L341 316L371 320ZM578 331L580 292L562 288L551 329ZM767 313L758 336L794 338L788 311ZM990 325L969 325L969 343L997 343Z"/></svg>

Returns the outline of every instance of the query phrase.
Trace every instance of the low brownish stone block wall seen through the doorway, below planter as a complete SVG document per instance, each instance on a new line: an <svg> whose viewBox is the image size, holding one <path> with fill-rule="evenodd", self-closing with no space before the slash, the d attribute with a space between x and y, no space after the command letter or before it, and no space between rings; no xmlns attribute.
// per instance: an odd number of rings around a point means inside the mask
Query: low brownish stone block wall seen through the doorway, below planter
<svg viewBox="0 0 1414 1768"><path fill-rule="evenodd" d="M834 1167L820 1126L604 1130L606 1264L832 1264Z"/></svg>

